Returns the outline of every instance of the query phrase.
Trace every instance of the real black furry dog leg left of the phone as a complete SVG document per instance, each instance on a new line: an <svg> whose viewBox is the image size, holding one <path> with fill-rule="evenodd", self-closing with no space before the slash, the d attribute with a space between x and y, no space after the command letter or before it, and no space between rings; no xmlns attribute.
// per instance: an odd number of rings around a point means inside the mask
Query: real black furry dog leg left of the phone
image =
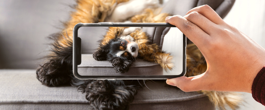
<svg viewBox="0 0 265 110"><path fill-rule="evenodd" d="M55 38L54 38L55 39ZM68 84L72 74L73 44L61 45L57 40L52 44L52 54L40 65L36 71L37 79L46 86L58 86Z"/></svg>

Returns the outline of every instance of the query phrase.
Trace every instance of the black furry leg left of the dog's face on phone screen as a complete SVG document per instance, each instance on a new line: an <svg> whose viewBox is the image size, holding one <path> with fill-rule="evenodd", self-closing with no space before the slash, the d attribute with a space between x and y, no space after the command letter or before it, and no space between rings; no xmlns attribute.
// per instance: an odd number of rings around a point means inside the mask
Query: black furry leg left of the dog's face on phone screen
<svg viewBox="0 0 265 110"><path fill-rule="evenodd" d="M107 43L106 42L99 41L100 42L99 48L93 54L93 58L95 60L102 61L102 60L106 60L107 59L107 54L108 54L109 49L110 49L110 42L111 41L109 41Z"/></svg>

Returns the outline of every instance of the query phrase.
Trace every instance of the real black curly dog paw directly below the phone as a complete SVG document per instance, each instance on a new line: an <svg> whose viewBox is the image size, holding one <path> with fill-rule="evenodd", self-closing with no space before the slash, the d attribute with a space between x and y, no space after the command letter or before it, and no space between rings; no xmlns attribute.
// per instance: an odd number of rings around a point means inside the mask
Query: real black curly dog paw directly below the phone
<svg viewBox="0 0 265 110"><path fill-rule="evenodd" d="M86 99L94 109L124 110L134 99L137 91L123 80L93 80L85 88Z"/></svg>

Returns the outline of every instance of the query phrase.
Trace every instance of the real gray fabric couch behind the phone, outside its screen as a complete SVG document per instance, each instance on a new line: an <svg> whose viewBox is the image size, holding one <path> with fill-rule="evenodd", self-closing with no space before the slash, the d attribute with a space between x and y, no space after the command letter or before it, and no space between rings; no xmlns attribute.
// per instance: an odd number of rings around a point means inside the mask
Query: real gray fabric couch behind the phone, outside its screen
<svg viewBox="0 0 265 110"><path fill-rule="evenodd" d="M184 16L193 7L208 4L224 18L235 0L168 2L162 12ZM68 19L68 4L74 1L0 1L0 109L91 109L76 88L46 87L36 79L36 66L51 42L46 37L60 31L59 20ZM186 93L164 82L146 85L149 89L138 90L130 109L215 109L203 94Z"/></svg>

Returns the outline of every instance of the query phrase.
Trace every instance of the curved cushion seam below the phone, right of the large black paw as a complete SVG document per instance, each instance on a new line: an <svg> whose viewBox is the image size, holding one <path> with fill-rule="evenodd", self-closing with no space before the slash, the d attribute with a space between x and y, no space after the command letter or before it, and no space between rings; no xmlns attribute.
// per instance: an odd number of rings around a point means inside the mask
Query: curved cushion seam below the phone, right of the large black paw
<svg viewBox="0 0 265 110"><path fill-rule="evenodd" d="M146 100L134 100L132 104L143 104L143 103L165 103L165 102L182 102L193 100L197 98L207 97L204 94L197 94L189 97L181 97L181 98L168 98L168 99L146 99Z"/></svg>

